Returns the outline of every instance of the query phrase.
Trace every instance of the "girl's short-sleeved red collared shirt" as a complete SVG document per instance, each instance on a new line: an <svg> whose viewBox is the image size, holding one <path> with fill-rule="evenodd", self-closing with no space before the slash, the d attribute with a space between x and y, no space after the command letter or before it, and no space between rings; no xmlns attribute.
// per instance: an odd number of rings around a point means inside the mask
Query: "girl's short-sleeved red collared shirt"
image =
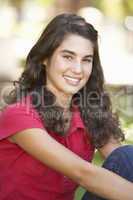
<svg viewBox="0 0 133 200"><path fill-rule="evenodd" d="M72 200L76 183L7 140L8 136L29 128L44 129L37 111L30 103L10 105L0 115L0 199ZM75 154L91 161L94 148L89 143L78 111L73 112L66 136L53 132L49 134Z"/></svg>

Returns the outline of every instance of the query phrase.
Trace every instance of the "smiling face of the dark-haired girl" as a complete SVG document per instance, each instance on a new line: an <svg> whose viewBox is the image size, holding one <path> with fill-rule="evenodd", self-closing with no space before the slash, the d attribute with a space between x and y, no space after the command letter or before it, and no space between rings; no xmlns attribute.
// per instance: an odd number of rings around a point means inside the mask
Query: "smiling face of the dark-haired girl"
<svg viewBox="0 0 133 200"><path fill-rule="evenodd" d="M46 86L56 96L72 97L92 72L93 44L76 34L65 37L46 65Z"/></svg>

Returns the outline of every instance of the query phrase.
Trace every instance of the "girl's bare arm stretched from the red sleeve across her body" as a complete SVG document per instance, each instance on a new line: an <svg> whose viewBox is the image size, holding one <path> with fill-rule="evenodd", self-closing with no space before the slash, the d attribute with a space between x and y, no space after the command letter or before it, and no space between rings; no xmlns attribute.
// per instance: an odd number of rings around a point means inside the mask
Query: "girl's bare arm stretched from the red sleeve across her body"
<svg viewBox="0 0 133 200"><path fill-rule="evenodd" d="M112 200L132 200L132 183L84 161L56 142L46 131L28 129L11 136L11 139L27 153L87 190Z"/></svg>

